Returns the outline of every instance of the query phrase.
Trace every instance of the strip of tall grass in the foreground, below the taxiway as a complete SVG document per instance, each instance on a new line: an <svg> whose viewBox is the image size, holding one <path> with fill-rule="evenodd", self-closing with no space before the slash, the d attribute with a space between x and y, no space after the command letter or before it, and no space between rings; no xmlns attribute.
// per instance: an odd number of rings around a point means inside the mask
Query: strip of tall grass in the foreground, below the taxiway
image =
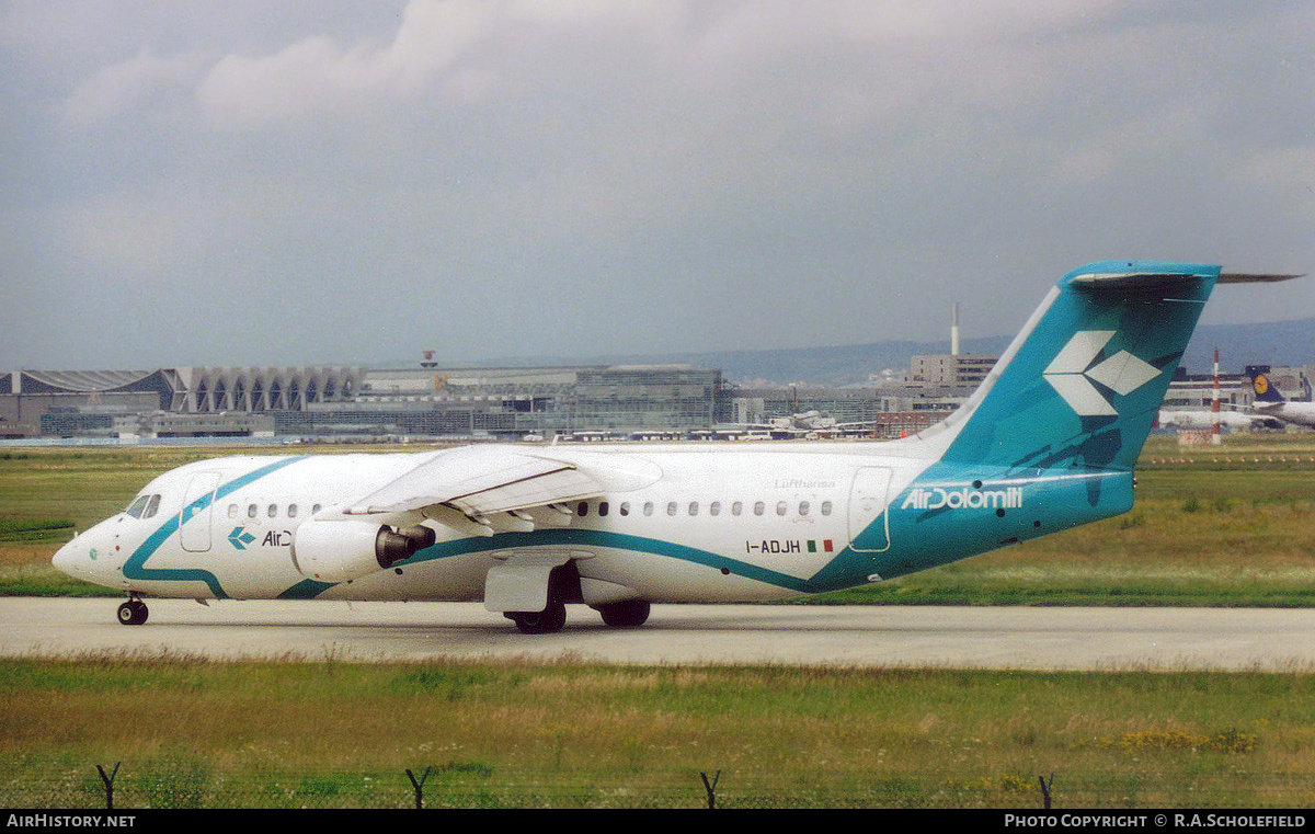
<svg viewBox="0 0 1315 834"><path fill-rule="evenodd" d="M1308 806L1315 675L0 662L0 804Z"/></svg>

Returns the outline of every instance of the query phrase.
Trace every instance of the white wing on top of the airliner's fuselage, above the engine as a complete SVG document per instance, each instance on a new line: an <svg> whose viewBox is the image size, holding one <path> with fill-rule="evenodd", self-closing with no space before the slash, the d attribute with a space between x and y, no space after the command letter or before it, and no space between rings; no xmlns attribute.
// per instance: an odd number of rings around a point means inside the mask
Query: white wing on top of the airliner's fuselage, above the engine
<svg viewBox="0 0 1315 834"><path fill-rule="evenodd" d="M385 487L352 501L347 516L422 516L463 533L492 535L564 526L567 501L602 495L573 463L508 446L441 451Z"/></svg>

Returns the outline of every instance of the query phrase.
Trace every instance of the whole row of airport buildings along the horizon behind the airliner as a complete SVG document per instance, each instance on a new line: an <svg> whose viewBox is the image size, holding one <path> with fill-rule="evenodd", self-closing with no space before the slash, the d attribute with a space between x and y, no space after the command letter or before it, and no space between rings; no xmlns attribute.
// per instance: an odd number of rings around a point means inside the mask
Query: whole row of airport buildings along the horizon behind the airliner
<svg viewBox="0 0 1315 834"><path fill-rule="evenodd" d="M735 385L677 364L12 371L0 372L0 438L894 438L948 416L994 362L952 359L915 356L903 379L849 387ZM1304 371L1274 368L1294 391ZM1165 406L1208 408L1211 396L1210 378L1180 370ZM1220 399L1248 405L1249 380L1224 376ZM831 428L778 428L801 414Z"/></svg>

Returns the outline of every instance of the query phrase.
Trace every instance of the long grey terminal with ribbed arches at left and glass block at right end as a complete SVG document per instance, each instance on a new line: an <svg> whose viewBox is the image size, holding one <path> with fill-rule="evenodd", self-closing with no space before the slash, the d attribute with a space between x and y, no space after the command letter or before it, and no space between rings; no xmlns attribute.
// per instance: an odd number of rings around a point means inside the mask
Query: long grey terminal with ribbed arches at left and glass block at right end
<svg viewBox="0 0 1315 834"><path fill-rule="evenodd" d="M682 437L730 392L685 366L13 371L0 437Z"/></svg>

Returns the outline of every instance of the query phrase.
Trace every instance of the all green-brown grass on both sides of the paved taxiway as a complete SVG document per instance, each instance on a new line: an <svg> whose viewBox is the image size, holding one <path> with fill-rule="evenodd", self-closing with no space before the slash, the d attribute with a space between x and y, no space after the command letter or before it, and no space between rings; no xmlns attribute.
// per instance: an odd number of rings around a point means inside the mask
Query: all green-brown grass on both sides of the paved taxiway
<svg viewBox="0 0 1315 834"><path fill-rule="evenodd" d="M0 454L0 592L197 450ZM1148 445L1130 514L831 604L1315 602L1315 439ZM0 605L4 601L0 599ZM0 805L1308 808L1315 675L0 660Z"/></svg>

